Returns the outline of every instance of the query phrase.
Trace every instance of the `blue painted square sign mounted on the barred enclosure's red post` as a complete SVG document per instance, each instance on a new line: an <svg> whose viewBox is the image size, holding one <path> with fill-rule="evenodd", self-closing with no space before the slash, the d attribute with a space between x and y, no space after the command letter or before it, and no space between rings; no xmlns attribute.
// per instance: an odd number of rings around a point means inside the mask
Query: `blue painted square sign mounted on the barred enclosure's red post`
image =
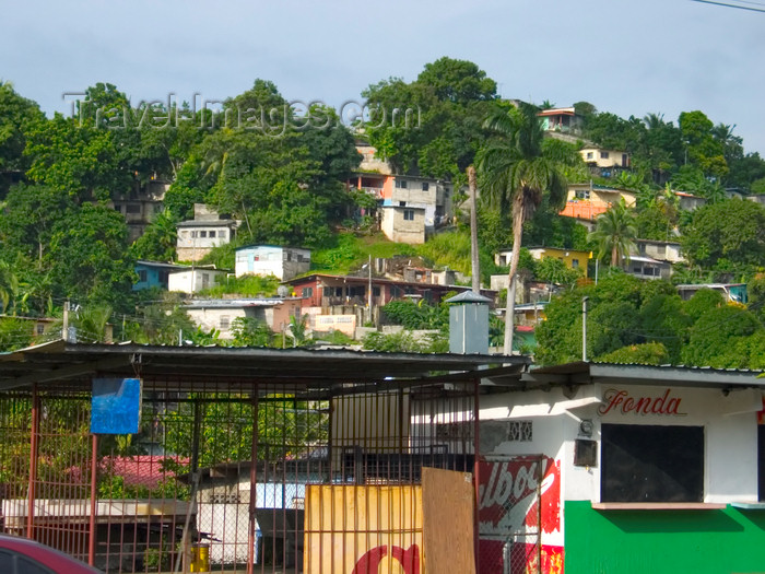
<svg viewBox="0 0 765 574"><path fill-rule="evenodd" d="M140 378L93 379L91 433L134 434L140 421Z"/></svg>

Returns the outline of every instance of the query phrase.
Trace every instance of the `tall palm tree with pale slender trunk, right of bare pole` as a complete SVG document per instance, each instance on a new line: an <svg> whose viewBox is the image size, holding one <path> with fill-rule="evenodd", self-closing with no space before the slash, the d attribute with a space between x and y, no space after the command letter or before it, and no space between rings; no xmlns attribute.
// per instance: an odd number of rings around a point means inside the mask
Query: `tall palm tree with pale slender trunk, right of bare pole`
<svg viewBox="0 0 765 574"><path fill-rule="evenodd" d="M552 207L563 207L567 185L562 164L568 160L560 156L560 147L543 145L544 132L534 108L528 104L499 110L490 116L484 126L498 138L490 141L481 154L482 187L493 203L504 212L510 211L513 216L513 256L505 317L505 353L511 354L516 271L523 223L533 215L545 195Z"/></svg>

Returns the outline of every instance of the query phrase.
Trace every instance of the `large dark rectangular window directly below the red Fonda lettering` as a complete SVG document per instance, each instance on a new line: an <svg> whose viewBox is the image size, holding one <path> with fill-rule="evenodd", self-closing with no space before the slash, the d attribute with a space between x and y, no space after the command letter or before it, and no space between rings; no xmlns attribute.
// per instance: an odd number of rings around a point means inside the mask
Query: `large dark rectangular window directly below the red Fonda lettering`
<svg viewBox="0 0 765 574"><path fill-rule="evenodd" d="M703 502L703 426L603 424L601 436L601 502Z"/></svg>

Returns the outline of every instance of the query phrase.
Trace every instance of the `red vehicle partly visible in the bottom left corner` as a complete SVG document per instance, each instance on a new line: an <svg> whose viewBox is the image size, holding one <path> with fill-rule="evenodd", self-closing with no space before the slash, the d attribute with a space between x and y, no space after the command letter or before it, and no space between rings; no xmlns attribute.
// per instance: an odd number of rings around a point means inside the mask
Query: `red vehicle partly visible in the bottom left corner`
<svg viewBox="0 0 765 574"><path fill-rule="evenodd" d="M17 536L0 535L2 574L103 574L58 550Z"/></svg>

